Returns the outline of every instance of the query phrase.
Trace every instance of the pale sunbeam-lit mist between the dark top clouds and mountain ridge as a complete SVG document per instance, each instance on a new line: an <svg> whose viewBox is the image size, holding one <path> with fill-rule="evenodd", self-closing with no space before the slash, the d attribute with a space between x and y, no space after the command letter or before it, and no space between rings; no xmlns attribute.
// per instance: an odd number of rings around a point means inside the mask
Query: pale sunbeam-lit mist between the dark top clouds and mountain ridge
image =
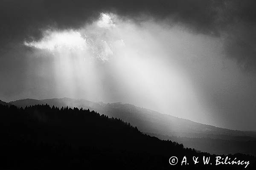
<svg viewBox="0 0 256 170"><path fill-rule="evenodd" d="M203 124L256 129L255 73L225 57L224 46L222 37L183 24L101 13L77 29L46 28L41 39L4 54L17 62L5 61L15 69L1 71L8 93L0 95L123 102Z"/></svg>

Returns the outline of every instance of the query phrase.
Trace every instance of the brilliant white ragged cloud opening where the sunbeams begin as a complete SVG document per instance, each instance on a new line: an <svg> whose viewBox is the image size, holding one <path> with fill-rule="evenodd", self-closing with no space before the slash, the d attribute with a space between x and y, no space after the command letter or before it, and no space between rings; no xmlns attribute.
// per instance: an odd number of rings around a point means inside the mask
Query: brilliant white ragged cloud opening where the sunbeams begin
<svg viewBox="0 0 256 170"><path fill-rule="evenodd" d="M70 50L84 51L86 54L90 54L90 57L105 62L116 49L125 45L122 37L116 35L117 28L112 20L114 17L113 14L102 13L95 23L78 30L46 30L41 40L25 41L24 45L52 52L57 51L61 54Z"/></svg>

